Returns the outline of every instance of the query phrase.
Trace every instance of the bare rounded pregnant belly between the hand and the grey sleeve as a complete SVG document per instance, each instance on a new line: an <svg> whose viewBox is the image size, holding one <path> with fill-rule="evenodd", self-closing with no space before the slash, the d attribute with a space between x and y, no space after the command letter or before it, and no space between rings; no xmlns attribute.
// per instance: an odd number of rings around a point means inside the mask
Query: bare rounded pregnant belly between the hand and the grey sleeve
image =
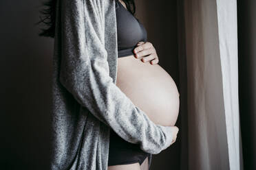
<svg viewBox="0 0 256 170"><path fill-rule="evenodd" d="M175 125L180 95L171 76L158 64L134 56L118 58L116 86L159 125Z"/></svg>

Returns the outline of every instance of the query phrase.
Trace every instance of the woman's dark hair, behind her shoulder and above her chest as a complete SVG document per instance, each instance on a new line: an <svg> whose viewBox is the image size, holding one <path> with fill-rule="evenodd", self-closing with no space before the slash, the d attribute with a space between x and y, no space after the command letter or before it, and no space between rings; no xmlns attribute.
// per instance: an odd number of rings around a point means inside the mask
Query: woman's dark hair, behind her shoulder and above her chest
<svg viewBox="0 0 256 170"><path fill-rule="evenodd" d="M42 17L40 17L39 23L44 23L47 26L47 29L41 29L42 32L39 33L39 36L46 36L54 38L55 36L55 15L56 15L56 1L57 0L47 0L42 3L45 8L41 11L39 11L42 14ZM103 0L105 1L105 0ZM119 0L115 0L119 1ZM127 7L127 10L131 12L131 14L135 15L136 12L136 6L134 3L134 0L122 0L125 2L125 5Z"/></svg>

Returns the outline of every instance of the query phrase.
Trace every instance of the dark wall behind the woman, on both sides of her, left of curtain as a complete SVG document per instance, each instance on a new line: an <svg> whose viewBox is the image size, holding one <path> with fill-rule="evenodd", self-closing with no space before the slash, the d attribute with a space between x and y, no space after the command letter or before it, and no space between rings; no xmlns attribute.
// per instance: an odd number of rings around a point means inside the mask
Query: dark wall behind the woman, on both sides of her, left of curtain
<svg viewBox="0 0 256 170"><path fill-rule="evenodd" d="M176 2L136 1L162 66L178 80ZM37 36L41 1L0 1L1 146L3 169L48 169L53 39ZM180 116L176 124L180 127ZM152 169L179 169L180 136L153 156Z"/></svg>

